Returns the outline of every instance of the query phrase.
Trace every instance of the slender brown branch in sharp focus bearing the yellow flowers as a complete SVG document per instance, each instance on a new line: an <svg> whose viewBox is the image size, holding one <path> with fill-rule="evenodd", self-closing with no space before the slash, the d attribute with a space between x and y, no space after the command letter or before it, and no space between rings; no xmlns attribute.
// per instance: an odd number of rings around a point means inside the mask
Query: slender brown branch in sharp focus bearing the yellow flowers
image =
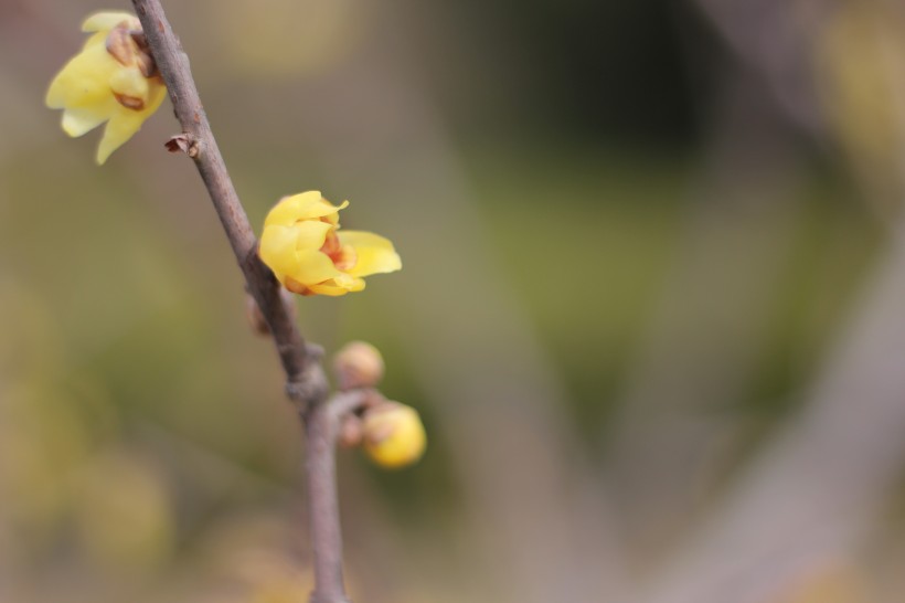
<svg viewBox="0 0 905 603"><path fill-rule="evenodd" d="M299 405L306 432L306 476L315 565L311 603L347 603L337 501L337 422L326 403L328 387L320 364L320 349L305 343L279 295L276 278L257 257L254 231L214 140L189 68L189 59L163 14L163 8L159 0L132 0L132 4L167 84L177 119L182 125L183 134L168 147L185 150L194 161L245 275L248 293L260 307L273 334L286 372L286 393Z"/></svg>

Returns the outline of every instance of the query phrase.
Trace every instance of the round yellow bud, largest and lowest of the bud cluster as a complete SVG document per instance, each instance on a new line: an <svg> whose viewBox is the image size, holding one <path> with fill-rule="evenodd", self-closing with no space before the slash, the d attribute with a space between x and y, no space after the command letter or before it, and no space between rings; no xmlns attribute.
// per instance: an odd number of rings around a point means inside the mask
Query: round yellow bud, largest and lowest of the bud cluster
<svg viewBox="0 0 905 603"><path fill-rule="evenodd" d="M418 411L388 402L370 409L363 416L364 452L371 461L387 469L397 469L418 461L427 447Z"/></svg>

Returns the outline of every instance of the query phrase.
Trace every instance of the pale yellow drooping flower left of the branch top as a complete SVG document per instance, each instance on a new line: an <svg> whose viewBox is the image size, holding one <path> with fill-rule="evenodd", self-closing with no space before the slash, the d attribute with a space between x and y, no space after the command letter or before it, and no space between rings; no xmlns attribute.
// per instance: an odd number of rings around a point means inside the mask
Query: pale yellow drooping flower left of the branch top
<svg viewBox="0 0 905 603"><path fill-rule="evenodd" d="M167 88L135 15L98 12L82 31L95 33L51 82L45 102L63 109L63 130L70 136L107 123L96 157L104 163L157 110Z"/></svg>

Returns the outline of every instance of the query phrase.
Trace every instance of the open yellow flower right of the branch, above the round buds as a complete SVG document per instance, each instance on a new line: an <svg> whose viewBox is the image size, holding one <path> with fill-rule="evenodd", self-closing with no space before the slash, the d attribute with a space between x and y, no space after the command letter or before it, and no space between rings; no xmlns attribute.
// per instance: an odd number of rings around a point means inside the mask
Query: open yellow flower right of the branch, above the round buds
<svg viewBox="0 0 905 603"><path fill-rule="evenodd" d="M340 231L340 207L320 191L284 197L264 221L258 255L283 285L301 295L345 295L364 288L362 276L394 272L393 243L360 231Z"/></svg>

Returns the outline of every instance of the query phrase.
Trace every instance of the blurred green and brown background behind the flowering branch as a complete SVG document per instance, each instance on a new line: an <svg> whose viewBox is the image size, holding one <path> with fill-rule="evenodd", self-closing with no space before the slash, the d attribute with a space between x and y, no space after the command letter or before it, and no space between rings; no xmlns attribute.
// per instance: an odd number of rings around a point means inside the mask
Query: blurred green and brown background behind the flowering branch
<svg viewBox="0 0 905 603"><path fill-rule="evenodd" d="M252 222L405 269L299 300L417 466L340 454L365 602L901 602L905 8L164 2ZM169 104L43 106L99 9L0 0L0 601L307 601L301 433Z"/></svg>

